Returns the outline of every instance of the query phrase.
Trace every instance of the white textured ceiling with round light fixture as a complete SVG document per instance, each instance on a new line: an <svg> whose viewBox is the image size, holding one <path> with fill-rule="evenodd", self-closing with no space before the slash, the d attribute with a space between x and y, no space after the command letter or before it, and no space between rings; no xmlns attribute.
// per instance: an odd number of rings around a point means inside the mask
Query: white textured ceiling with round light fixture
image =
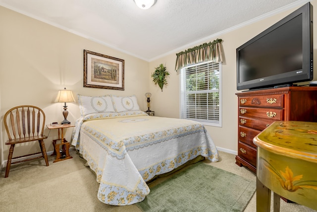
<svg viewBox="0 0 317 212"><path fill-rule="evenodd" d="M151 61L308 0L0 0L0 5Z"/></svg>

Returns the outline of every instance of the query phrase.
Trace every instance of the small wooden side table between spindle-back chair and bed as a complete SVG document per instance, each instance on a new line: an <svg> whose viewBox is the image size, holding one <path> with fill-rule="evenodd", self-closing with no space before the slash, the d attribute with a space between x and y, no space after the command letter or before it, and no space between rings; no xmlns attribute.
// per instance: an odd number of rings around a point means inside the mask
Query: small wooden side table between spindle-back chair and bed
<svg viewBox="0 0 317 212"><path fill-rule="evenodd" d="M75 125L70 125L70 124L47 125L47 127L50 130L51 129L57 129L58 130L58 139L53 140L54 152L53 152L52 155L56 154L56 159L53 161L53 163L61 161L61 160L66 160L66 159L73 158L69 154L70 143L68 141L66 141L66 139L64 139L63 130L64 130L64 128L75 127ZM59 133L59 129L61 130L61 134ZM61 135L61 138L60 138L60 135ZM60 141L60 143L56 143L57 141ZM61 147L61 151L60 151L60 146L62 146Z"/></svg>

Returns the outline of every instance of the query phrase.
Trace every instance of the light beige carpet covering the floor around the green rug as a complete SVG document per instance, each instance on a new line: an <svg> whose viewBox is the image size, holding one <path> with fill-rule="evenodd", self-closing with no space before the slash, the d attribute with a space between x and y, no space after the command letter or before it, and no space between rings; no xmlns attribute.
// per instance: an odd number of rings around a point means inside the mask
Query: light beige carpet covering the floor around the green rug
<svg viewBox="0 0 317 212"><path fill-rule="evenodd" d="M52 152L51 152L52 153ZM45 166L43 158L11 166L8 178L4 178L5 167L0 172L0 212L140 212L134 204L130 206L110 206L97 199L99 183L96 175L85 161L71 148L72 159L53 163L55 156L49 156L50 166ZM235 155L219 151L220 161L204 163L235 173L255 181L253 172L235 164ZM167 177L158 178L152 186L169 179L182 170ZM210 196L208 202L213 199ZM273 198L271 198L273 199ZM271 202L272 208L272 202ZM256 211L256 194L244 212ZM272 211L272 209L271 209ZM315 212L305 206L281 201L280 212Z"/></svg>

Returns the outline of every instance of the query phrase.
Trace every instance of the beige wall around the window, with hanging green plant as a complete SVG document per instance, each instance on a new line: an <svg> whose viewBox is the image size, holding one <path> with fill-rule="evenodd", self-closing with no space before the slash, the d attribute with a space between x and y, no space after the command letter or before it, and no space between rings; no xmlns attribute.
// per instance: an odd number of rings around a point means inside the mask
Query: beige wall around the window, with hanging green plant
<svg viewBox="0 0 317 212"><path fill-rule="evenodd" d="M315 8L317 8L316 2L316 0L311 1L313 6L314 4L316 5ZM235 95L235 93L238 92L236 90L236 48L252 39L297 8L298 7L281 12L255 23L250 23L244 27L205 41L200 41L199 43L188 47L192 48L203 43L208 43L217 38L221 38L223 40L223 42L221 42L224 53L224 62L222 64L222 127L205 126L210 133L212 140L219 149L236 153L238 148L238 100ZM315 13L317 14L317 12ZM315 20L316 15L314 15L314 22L316 23L317 21ZM314 27L315 38L317 37L317 26ZM317 41L316 39L314 40L314 58L316 58ZM163 92L161 92L157 86L154 86L153 83L150 83L150 92L153 94L151 98L151 109L153 109L158 116L179 118L179 75L174 71L176 53L178 52L150 62L150 71L152 72L154 71L154 67L157 67L161 63L166 64L167 70L171 72L170 78L168 79L169 85L163 88ZM314 78L317 80L317 73L315 70L316 69L314 68Z"/></svg>

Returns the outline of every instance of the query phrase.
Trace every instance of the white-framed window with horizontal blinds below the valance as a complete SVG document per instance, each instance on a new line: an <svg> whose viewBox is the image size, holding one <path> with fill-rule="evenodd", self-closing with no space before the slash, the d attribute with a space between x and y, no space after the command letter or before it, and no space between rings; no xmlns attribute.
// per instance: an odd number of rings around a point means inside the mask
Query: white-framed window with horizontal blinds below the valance
<svg viewBox="0 0 317 212"><path fill-rule="evenodd" d="M221 127L221 62L181 69L181 118Z"/></svg>

